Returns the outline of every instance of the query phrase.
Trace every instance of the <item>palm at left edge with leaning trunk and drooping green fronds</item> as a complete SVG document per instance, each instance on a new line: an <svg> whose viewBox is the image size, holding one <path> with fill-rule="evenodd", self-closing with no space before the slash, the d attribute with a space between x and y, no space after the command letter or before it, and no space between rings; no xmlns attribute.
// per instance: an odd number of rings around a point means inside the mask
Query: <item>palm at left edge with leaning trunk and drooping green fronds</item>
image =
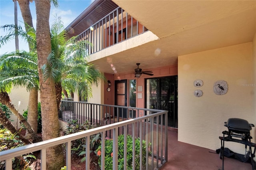
<svg viewBox="0 0 256 170"><path fill-rule="evenodd" d="M34 55L33 55L34 54ZM42 138L36 134L33 127L30 126L18 110L10 103L7 89L10 91L12 87L24 86L28 91L38 89L38 72L36 53L13 52L0 56L0 102L6 105L25 125L29 134L33 138L33 142L41 141ZM37 114L36 114L37 116ZM37 127L37 119L36 119Z"/></svg>

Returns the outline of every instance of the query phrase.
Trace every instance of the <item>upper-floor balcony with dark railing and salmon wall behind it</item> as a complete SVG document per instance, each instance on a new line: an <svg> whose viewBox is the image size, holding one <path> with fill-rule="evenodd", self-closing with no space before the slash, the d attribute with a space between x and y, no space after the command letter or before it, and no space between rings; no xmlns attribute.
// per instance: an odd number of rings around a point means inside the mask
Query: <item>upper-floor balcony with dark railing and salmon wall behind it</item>
<svg viewBox="0 0 256 170"><path fill-rule="evenodd" d="M87 40L90 42L91 46L88 45L86 49L91 55L146 31L148 31L147 28L122 8L117 7L79 34L76 41Z"/></svg>

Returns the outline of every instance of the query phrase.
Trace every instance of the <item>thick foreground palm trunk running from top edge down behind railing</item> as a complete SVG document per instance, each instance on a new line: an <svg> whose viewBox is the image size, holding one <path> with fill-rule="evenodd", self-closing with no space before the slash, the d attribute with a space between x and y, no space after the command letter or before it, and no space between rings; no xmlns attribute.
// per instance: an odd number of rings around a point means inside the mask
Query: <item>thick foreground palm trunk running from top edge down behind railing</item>
<svg viewBox="0 0 256 170"><path fill-rule="evenodd" d="M47 64L51 53L50 38L50 0L35 0L36 4L36 43L38 53L38 73L40 83L42 136L43 140L59 136L58 109L54 81L44 81L41 67ZM63 149L61 145L46 149L46 169L58 170L64 166Z"/></svg>

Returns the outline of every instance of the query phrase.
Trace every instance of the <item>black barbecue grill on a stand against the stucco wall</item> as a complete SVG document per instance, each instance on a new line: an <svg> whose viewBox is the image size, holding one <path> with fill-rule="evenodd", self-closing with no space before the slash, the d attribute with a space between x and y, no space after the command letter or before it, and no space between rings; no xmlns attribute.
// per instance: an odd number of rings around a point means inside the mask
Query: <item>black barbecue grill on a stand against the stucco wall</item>
<svg viewBox="0 0 256 170"><path fill-rule="evenodd" d="M254 156L256 144L251 142L252 136L250 136L250 130L254 127L253 124L249 124L248 121L238 118L230 118L224 124L228 128L228 131L223 131L223 137L219 136L221 140L221 150L220 158L222 159L222 170L224 170L224 141L227 142L238 142L245 145L245 154L244 156L251 156L252 170L254 170ZM249 150L247 151L247 146ZM252 152L252 147L254 150Z"/></svg>

